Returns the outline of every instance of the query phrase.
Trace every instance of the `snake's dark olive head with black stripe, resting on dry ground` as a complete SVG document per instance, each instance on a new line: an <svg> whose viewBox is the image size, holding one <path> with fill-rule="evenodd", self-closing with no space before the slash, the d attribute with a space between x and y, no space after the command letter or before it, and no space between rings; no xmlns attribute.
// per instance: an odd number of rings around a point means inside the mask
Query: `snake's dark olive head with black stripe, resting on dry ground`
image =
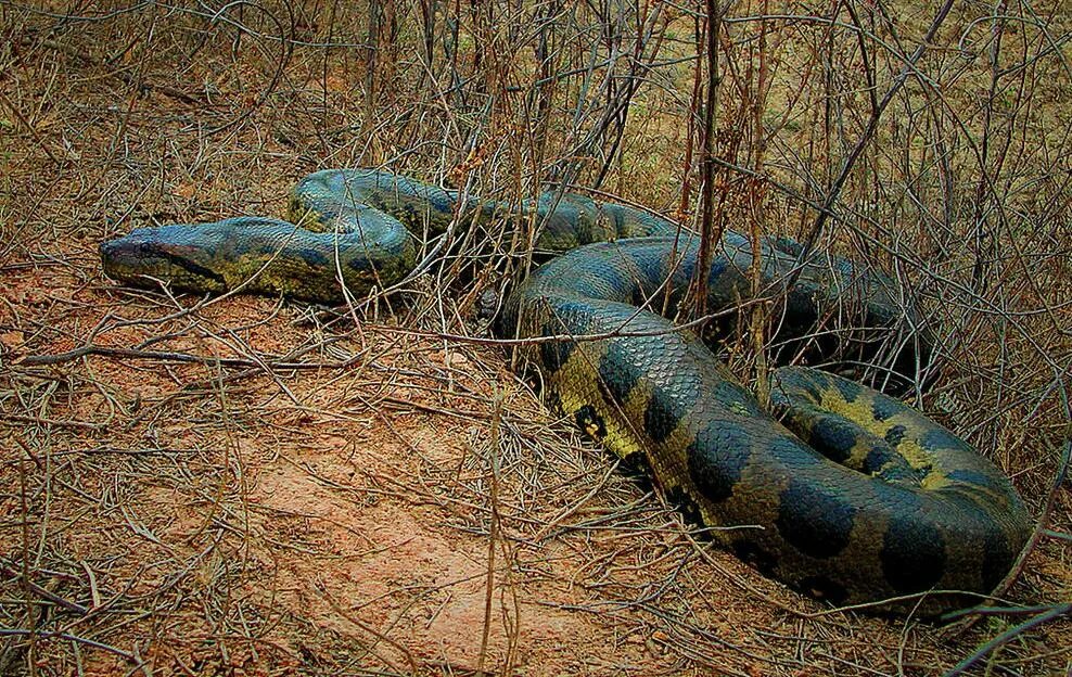
<svg viewBox="0 0 1072 677"><path fill-rule="evenodd" d="M132 286L164 282L184 291L227 291L224 276L213 269L212 234L210 229L183 225L139 228L101 244L104 273Z"/></svg>

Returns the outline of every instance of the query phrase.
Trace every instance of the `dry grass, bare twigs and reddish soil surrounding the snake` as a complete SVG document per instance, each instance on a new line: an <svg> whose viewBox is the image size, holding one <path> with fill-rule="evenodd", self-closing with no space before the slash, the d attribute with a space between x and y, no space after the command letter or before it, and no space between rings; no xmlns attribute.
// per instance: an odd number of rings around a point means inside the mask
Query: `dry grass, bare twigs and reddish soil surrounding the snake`
<svg viewBox="0 0 1072 677"><path fill-rule="evenodd" d="M279 215L328 166L694 212L688 11L49 7L0 3L0 674L897 675L977 653L979 674L1070 669L1072 628L1045 615L1072 599L1057 3L959 7L816 232L941 318L921 404L1047 529L1010 610L947 627L784 590L549 420L474 318L523 264L518 233L480 252L459 234L410 289L341 314L100 272L104 239ZM717 194L742 230L812 232L932 18L847 7L727 17Z"/></svg>

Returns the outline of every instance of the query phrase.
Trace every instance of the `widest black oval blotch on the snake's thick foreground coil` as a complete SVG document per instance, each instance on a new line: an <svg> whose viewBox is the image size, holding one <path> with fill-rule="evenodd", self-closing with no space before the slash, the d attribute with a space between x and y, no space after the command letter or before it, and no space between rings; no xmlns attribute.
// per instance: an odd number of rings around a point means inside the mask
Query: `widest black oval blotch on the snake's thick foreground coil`
<svg viewBox="0 0 1072 677"><path fill-rule="evenodd" d="M848 545L856 508L833 489L791 480L780 496L775 524L791 546L809 557L833 557Z"/></svg>

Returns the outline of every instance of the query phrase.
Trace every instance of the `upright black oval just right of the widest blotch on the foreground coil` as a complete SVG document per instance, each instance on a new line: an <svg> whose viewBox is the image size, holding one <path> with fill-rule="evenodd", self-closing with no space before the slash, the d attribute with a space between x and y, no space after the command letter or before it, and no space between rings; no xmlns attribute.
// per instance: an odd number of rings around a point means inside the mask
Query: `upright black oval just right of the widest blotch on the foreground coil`
<svg viewBox="0 0 1072 677"><path fill-rule="evenodd" d="M945 538L915 511L893 518L882 536L879 552L882 573L901 593L922 592L945 574Z"/></svg>

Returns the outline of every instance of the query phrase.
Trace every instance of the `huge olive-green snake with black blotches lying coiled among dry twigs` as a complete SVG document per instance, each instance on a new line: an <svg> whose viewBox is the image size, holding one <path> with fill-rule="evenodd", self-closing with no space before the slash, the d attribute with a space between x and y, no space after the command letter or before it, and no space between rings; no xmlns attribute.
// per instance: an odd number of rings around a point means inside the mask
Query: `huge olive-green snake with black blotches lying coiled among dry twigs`
<svg viewBox="0 0 1072 677"><path fill-rule="evenodd" d="M360 169L303 179L290 218L135 230L101 245L104 271L132 284L335 303L343 286L359 297L405 278L413 233L535 218L538 247L565 253L510 294L499 331L544 338L525 349L548 401L648 469L690 520L761 571L838 604L934 613L963 601L935 591L992 590L1028 538L1009 481L937 423L802 367L774 372L768 412L695 334L650 311L673 309L697 268L698 243L668 220L575 194L482 202ZM763 285L780 294L789 335L829 317L889 333L904 318L883 276L835 257L802 264L792 243L761 250ZM749 296L751 264L749 242L726 233L709 307Z"/></svg>

